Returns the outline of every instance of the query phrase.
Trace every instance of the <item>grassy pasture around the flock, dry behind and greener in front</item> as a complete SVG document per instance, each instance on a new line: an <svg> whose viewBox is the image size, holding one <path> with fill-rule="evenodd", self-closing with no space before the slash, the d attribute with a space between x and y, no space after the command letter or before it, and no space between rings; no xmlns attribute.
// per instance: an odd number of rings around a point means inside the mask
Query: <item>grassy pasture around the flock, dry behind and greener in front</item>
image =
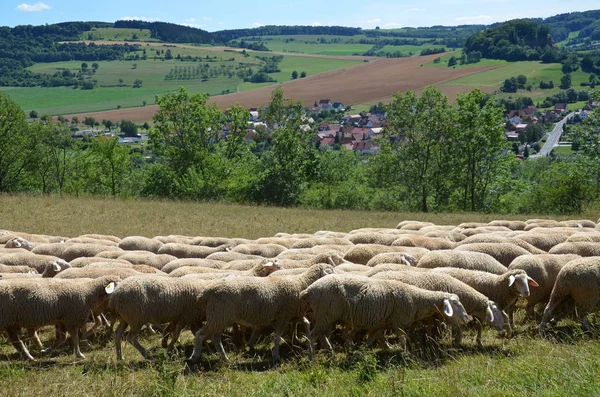
<svg viewBox="0 0 600 397"><path fill-rule="evenodd" d="M597 220L597 212L581 217ZM528 216L534 218L536 215ZM126 235L186 234L257 238L277 232L350 231L359 227L394 227L406 219L458 224L489 221L493 214L419 214L357 211L315 211L249 207L214 203L143 200L110 200L2 196L0 228L33 233L75 236L83 233ZM509 219L526 217L503 216ZM555 217L566 219L565 217ZM115 219L118 221L115 222ZM517 312L519 315L520 312ZM192 336L182 334L178 354L146 361L124 344L124 363L117 363L108 336L82 344L83 360L74 360L71 349L57 350L35 363L19 360L0 336L2 395L102 395L102 396L503 396L598 395L600 393L600 343L584 336L577 325L564 322L549 340L537 336L535 324L522 324L517 334L500 339L485 331L483 349L475 347L473 333L465 334L462 347L445 340L441 349L413 351L412 356L357 347L350 353L337 348L336 356L317 355L306 360L302 347L282 345L283 363L270 364L268 341L259 343L255 355L231 353L231 363L215 355L197 366L187 366ZM597 317L592 322L598 321ZM561 323L563 324L563 323ZM52 333L45 331L47 344ZM157 336L142 343L159 345ZM37 352L34 355L37 356Z"/></svg>

